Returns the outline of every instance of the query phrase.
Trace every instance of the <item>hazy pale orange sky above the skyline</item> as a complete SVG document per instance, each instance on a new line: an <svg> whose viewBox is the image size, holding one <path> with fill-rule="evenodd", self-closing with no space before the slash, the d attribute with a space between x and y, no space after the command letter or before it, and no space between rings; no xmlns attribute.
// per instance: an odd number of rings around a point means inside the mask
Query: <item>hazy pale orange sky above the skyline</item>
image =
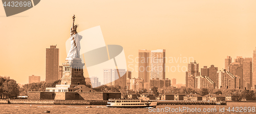
<svg viewBox="0 0 256 114"><path fill-rule="evenodd" d="M21 84L28 83L30 75L45 80L46 48L57 45L59 64L65 63L65 43L75 14L77 32L100 25L106 45L123 47L132 77L138 77L138 63L132 60L138 57L139 49L165 49L166 78L185 83L188 58L193 58L199 69L215 65L218 70L224 68L227 55L232 61L236 56L252 58L256 46L255 4L256 1L44 0L9 17L0 6L0 75ZM84 76L89 77L86 72Z"/></svg>

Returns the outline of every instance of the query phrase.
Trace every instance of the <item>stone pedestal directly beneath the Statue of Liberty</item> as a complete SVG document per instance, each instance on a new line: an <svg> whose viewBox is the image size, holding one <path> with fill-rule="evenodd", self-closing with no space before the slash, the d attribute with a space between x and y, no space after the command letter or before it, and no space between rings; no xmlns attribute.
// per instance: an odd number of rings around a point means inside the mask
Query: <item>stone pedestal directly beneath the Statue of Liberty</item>
<svg viewBox="0 0 256 114"><path fill-rule="evenodd" d="M66 59L63 63L63 76L60 84L79 85L86 84L83 77L83 66L80 58Z"/></svg>

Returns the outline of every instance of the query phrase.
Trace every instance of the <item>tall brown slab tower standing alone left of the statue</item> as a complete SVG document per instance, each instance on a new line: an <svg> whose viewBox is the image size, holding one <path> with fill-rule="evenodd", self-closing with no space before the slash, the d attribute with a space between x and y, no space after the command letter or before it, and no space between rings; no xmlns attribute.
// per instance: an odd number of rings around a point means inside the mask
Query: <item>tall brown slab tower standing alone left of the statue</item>
<svg viewBox="0 0 256 114"><path fill-rule="evenodd" d="M46 48L46 82L54 82L59 78L59 49L56 45Z"/></svg>

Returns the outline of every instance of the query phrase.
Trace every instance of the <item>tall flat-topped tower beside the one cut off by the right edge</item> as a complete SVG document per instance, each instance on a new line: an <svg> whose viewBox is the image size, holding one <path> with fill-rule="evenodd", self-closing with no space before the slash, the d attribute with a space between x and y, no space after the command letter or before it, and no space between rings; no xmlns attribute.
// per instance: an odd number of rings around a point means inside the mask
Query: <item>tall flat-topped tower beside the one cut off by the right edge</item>
<svg viewBox="0 0 256 114"><path fill-rule="evenodd" d="M243 61L243 83L246 89L252 86L252 58L244 58Z"/></svg>

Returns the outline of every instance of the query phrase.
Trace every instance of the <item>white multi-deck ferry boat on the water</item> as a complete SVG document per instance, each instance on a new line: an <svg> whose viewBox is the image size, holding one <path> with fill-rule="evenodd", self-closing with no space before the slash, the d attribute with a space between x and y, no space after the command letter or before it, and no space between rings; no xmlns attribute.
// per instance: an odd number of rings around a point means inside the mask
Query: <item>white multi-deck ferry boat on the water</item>
<svg viewBox="0 0 256 114"><path fill-rule="evenodd" d="M106 107L118 107L118 108L144 108L144 107L156 107L157 102L143 101L139 99L127 100L127 99L109 99Z"/></svg>

